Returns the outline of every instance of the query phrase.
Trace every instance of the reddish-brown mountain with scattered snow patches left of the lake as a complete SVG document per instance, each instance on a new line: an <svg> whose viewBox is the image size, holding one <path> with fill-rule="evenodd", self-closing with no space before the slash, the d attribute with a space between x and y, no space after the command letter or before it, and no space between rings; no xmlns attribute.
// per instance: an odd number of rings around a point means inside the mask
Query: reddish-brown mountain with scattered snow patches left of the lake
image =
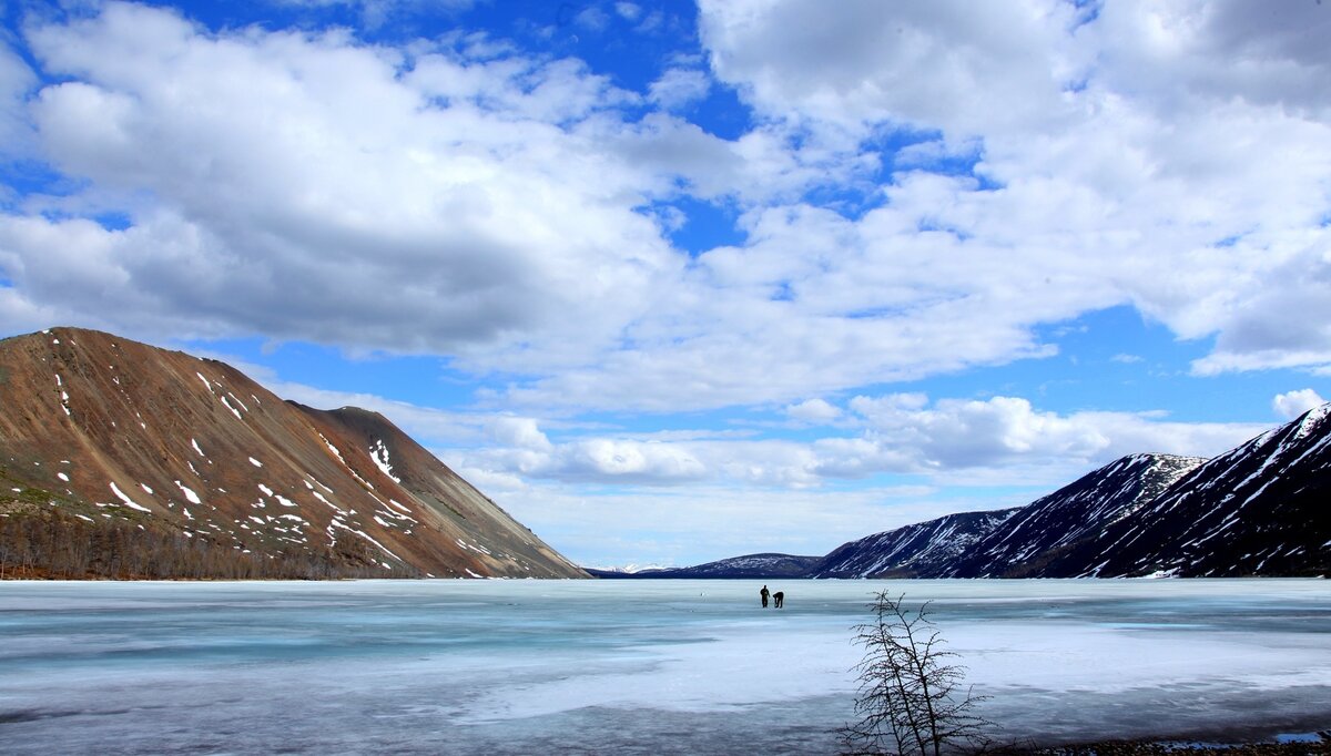
<svg viewBox="0 0 1331 756"><path fill-rule="evenodd" d="M0 341L0 478L37 575L586 576L382 415L98 331Z"/></svg>

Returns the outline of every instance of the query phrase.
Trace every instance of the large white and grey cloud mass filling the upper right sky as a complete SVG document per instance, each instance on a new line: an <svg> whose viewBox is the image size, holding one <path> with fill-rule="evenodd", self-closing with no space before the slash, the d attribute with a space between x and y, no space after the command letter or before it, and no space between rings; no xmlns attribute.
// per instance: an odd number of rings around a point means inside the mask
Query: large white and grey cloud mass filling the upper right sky
<svg viewBox="0 0 1331 756"><path fill-rule="evenodd" d="M771 121L837 138L901 124L941 132L901 156L909 170L884 188L886 212L856 225L890 218L912 236L960 237L945 256L884 270L954 286L977 305L964 322L1022 329L1059 309L1130 302L1183 338L1217 337L1198 373L1326 365L1331 318L1316 317L1326 297L1315 291L1331 244L1331 97L1312 40L1328 15L1311 4L1260 20L1233 3L1097 11L717 1L703 3L700 25L717 79ZM966 153L998 190L922 173ZM998 260L1004 269L986 265ZM1058 301L1073 291L1085 303ZM1002 293L1026 302L1009 309ZM1282 305L1291 299L1314 317Z"/></svg>

